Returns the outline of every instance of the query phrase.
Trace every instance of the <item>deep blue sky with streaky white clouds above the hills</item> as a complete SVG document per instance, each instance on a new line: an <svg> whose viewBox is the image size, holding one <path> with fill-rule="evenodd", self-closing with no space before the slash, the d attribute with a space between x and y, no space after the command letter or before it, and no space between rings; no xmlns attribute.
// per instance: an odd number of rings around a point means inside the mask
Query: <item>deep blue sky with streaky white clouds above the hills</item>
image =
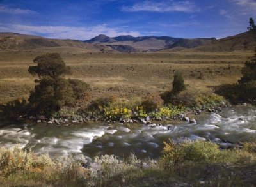
<svg viewBox="0 0 256 187"><path fill-rule="evenodd" d="M0 32L47 38L223 38L246 31L250 17L256 0L0 0Z"/></svg>

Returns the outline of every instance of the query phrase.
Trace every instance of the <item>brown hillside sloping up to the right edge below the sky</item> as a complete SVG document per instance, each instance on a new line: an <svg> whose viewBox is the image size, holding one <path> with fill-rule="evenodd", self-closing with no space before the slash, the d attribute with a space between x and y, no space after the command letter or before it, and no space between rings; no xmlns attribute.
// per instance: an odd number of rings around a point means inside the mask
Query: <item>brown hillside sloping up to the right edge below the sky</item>
<svg viewBox="0 0 256 187"><path fill-rule="evenodd" d="M198 52L231 52L236 50L254 50L256 47L256 32L247 31L245 33L237 34L236 36L229 36L214 40L209 45L204 45L191 49Z"/></svg>

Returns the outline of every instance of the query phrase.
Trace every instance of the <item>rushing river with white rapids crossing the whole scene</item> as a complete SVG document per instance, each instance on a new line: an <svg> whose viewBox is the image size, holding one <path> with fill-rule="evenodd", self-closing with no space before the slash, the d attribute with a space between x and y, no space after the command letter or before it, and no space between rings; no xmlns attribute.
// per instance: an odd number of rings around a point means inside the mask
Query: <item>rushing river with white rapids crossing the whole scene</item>
<svg viewBox="0 0 256 187"><path fill-rule="evenodd" d="M197 123L150 127L143 124L81 123L56 126L46 123L0 124L0 146L31 148L52 157L81 153L93 158L115 154L125 158L131 152L139 158L158 158L163 142L185 139L211 140L223 148L256 140L256 108L236 105L222 112L201 114Z"/></svg>

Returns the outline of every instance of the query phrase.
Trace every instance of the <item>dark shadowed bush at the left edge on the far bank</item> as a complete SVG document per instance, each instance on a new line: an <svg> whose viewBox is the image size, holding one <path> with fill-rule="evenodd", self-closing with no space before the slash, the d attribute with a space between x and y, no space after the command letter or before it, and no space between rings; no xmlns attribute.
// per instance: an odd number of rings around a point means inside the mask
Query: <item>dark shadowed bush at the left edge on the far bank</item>
<svg viewBox="0 0 256 187"><path fill-rule="evenodd" d="M28 112L28 105L24 99L9 101L6 105L0 105L0 117L2 119L18 120Z"/></svg>

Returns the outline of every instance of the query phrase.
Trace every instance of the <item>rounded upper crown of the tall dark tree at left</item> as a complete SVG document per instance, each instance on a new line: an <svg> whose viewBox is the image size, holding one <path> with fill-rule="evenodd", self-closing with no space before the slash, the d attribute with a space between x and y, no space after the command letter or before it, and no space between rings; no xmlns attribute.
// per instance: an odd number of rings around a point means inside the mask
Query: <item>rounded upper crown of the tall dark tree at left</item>
<svg viewBox="0 0 256 187"><path fill-rule="evenodd" d="M66 66L58 53L37 56L33 61L37 66L30 66L28 69L32 75L38 75L39 77L50 76L55 79L70 73L70 67Z"/></svg>

